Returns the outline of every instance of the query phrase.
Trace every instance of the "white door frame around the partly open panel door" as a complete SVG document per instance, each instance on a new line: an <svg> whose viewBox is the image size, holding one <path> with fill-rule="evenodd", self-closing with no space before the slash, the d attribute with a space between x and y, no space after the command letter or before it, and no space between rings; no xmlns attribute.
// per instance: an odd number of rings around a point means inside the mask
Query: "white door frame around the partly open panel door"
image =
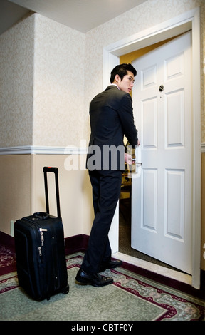
<svg viewBox="0 0 205 335"><path fill-rule="evenodd" d="M192 259L193 275L192 286L200 288L201 272L201 78L200 78L200 9L192 9L180 16L164 21L135 35L128 36L106 46L103 49L103 88L107 87L110 80L110 72L119 64L120 56L125 53L139 50L159 41L164 41L192 31L192 108L193 108L193 215L192 220ZM112 253L119 249L119 207L109 233Z"/></svg>

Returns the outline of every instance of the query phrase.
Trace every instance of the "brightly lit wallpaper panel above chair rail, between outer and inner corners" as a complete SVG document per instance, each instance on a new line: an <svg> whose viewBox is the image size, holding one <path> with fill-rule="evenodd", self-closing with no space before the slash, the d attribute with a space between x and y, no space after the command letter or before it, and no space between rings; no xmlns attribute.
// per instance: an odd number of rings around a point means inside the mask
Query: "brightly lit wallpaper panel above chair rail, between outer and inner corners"
<svg viewBox="0 0 205 335"><path fill-rule="evenodd" d="M36 15L33 145L80 145L85 34Z"/></svg>

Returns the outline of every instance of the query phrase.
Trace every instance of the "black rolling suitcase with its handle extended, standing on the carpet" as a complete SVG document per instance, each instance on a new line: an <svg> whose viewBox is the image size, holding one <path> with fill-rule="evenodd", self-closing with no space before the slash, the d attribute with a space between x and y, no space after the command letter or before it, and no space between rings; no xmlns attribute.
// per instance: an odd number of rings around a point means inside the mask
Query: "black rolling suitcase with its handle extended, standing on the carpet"
<svg viewBox="0 0 205 335"><path fill-rule="evenodd" d="M47 172L54 172L58 217L49 213ZM46 212L36 212L14 223L16 267L19 285L36 300L69 292L61 220L58 168L43 168Z"/></svg>

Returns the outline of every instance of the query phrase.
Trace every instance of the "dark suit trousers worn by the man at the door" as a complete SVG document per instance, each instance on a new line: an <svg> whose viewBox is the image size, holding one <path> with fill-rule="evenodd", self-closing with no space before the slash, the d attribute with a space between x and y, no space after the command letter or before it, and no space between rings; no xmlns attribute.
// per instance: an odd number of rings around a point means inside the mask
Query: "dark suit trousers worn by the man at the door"
<svg viewBox="0 0 205 335"><path fill-rule="evenodd" d="M88 274L99 272L102 262L110 261L111 248L108 232L120 197L122 171L89 171L93 187L95 219L85 252L83 269Z"/></svg>

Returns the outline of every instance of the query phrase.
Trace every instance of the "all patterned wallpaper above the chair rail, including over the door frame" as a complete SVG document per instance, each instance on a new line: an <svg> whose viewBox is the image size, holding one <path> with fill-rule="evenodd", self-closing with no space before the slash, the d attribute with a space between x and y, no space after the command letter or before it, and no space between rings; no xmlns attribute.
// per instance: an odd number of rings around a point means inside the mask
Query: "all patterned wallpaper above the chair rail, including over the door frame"
<svg viewBox="0 0 205 335"><path fill-rule="evenodd" d="M80 146L88 108L102 91L103 47L201 6L201 142L205 142L204 0L148 0L79 33L39 14L0 36L0 148ZM108 84L108 83L107 83Z"/></svg>

